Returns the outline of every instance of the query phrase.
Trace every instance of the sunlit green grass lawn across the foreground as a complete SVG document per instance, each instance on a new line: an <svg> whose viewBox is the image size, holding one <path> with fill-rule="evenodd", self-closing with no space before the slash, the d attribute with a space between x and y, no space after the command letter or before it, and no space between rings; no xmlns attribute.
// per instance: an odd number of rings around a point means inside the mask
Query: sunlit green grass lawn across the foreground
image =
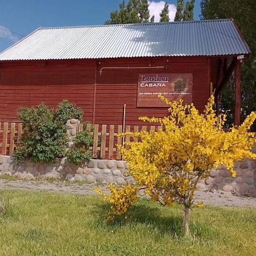
<svg viewBox="0 0 256 256"><path fill-rule="evenodd" d="M256 255L256 209L203 207L182 232L183 210L142 199L105 223L101 197L0 191L0 255ZM221 200L221 199L220 199Z"/></svg>

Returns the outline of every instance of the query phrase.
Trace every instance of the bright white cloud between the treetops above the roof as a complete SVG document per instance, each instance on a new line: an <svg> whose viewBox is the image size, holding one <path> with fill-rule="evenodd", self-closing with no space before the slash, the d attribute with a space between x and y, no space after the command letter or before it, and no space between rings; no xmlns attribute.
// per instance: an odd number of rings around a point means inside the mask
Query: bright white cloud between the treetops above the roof
<svg viewBox="0 0 256 256"><path fill-rule="evenodd" d="M161 13L165 3L166 3L166 1L159 1L159 2L148 1L148 5L149 5L148 9L150 10L150 16L155 15L155 22L159 22L160 13ZM176 6L171 5L169 3L170 21L174 21L175 14L176 14Z"/></svg>

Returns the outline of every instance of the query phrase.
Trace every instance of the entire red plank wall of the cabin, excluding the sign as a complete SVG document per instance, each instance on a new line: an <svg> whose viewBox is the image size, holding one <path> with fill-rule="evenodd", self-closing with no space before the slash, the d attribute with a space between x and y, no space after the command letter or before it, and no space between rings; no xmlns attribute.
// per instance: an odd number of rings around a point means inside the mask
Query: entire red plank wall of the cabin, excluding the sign
<svg viewBox="0 0 256 256"><path fill-rule="evenodd" d="M99 72L102 67L162 66L167 59L168 69L104 69L102 75ZM123 104L126 125L141 125L139 116L166 115L168 107L137 108L139 73L193 73L193 102L201 111L207 103L207 57L4 62L0 63L0 121L19 121L17 112L22 106L44 101L53 108L62 100L75 102L84 110L85 120L100 124L122 124Z"/></svg>

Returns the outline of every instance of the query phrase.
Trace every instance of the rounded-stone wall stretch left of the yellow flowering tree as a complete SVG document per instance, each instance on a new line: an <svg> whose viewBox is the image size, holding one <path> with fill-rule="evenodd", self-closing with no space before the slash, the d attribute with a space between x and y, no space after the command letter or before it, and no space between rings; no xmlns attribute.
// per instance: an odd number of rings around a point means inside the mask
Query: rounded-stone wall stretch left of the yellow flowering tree
<svg viewBox="0 0 256 256"><path fill-rule="evenodd" d="M32 163L30 160L18 164L11 156L0 155L0 175L16 175L26 179L42 176L70 181L122 184L132 180L131 176L124 175L126 172L127 164L122 160L92 159L83 167L77 167L67 163L66 158L58 159L54 164Z"/></svg>

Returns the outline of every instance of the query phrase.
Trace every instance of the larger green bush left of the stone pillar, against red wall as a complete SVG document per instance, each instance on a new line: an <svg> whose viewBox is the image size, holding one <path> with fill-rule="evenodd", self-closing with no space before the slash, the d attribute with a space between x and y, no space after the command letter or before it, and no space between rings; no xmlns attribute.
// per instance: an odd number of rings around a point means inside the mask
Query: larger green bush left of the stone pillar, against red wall
<svg viewBox="0 0 256 256"><path fill-rule="evenodd" d="M42 103L35 108L21 108L19 118L24 133L14 151L14 159L18 162L27 158L33 162L55 162L57 157L65 155L67 120L81 119L82 110L68 101L61 102L55 111Z"/></svg>

